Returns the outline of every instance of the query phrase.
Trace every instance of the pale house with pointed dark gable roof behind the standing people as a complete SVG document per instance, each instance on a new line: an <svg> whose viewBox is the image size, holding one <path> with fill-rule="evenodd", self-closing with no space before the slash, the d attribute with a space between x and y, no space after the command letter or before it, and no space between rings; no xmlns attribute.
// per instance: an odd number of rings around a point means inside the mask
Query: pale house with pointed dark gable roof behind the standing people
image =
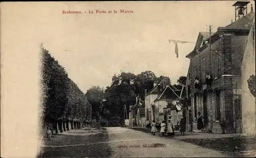
<svg viewBox="0 0 256 158"><path fill-rule="evenodd" d="M185 92L185 89L184 89ZM176 104L180 100L180 89L172 88L170 85L170 79L164 77L161 82L154 83L154 87L145 95L145 124L152 123L153 120L156 123L166 121L164 117L164 109L167 105L175 105L174 108L169 107L172 116L173 123L176 123L183 117L182 111L176 111Z"/></svg>

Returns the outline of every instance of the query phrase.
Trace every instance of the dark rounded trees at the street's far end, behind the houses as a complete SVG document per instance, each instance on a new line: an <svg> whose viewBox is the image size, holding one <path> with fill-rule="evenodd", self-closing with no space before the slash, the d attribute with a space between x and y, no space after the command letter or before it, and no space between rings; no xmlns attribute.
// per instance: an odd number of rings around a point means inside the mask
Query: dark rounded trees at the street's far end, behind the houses
<svg viewBox="0 0 256 158"><path fill-rule="evenodd" d="M160 82L164 76L156 77L154 72L145 71L138 75L122 72L112 77L110 86L105 89L99 86L92 86L86 96L92 105L92 117L96 120L104 120L108 126L116 126L123 123L123 107L129 111L128 105L135 104L136 96L139 94L143 100L145 89L149 92L154 82ZM176 88L181 89L185 84L186 77L181 76ZM108 123L105 123L107 120Z"/></svg>

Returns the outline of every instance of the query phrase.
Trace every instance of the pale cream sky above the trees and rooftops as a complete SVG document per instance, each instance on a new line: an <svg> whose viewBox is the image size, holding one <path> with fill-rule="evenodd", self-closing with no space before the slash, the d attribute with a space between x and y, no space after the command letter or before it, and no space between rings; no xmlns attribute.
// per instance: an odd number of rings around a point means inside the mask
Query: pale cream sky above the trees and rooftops
<svg viewBox="0 0 256 158"><path fill-rule="evenodd" d="M121 71L153 71L176 83L180 76L187 75L189 59L185 56L195 43L178 44L176 58L175 45L168 40L196 42L199 32L208 31L209 25L214 32L229 25L234 21L235 2L52 3L37 25L44 32L40 36L44 47L84 93L92 85L109 86L112 76ZM88 14L96 9L134 13ZM87 13L61 14L62 10Z"/></svg>

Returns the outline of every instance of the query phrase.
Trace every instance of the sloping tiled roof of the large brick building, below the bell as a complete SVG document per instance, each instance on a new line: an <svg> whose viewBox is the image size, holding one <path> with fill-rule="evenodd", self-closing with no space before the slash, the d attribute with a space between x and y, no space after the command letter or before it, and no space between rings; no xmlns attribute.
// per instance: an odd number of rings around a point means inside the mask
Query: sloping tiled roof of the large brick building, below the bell
<svg viewBox="0 0 256 158"><path fill-rule="evenodd" d="M232 22L226 27L220 27L219 29L224 30L250 30L252 25L252 20L254 18L255 12L250 12L245 16L239 18L238 20Z"/></svg>

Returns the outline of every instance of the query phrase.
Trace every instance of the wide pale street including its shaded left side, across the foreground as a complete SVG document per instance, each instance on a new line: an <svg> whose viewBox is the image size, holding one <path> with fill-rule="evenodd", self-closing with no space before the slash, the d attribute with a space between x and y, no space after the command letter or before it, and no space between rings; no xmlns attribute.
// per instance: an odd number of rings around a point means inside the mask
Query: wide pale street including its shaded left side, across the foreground
<svg viewBox="0 0 256 158"><path fill-rule="evenodd" d="M175 138L123 127L108 127L100 133L71 130L45 143L39 157L229 157L228 153L186 143ZM178 136L182 137L182 136ZM232 155L234 156L234 155Z"/></svg>

